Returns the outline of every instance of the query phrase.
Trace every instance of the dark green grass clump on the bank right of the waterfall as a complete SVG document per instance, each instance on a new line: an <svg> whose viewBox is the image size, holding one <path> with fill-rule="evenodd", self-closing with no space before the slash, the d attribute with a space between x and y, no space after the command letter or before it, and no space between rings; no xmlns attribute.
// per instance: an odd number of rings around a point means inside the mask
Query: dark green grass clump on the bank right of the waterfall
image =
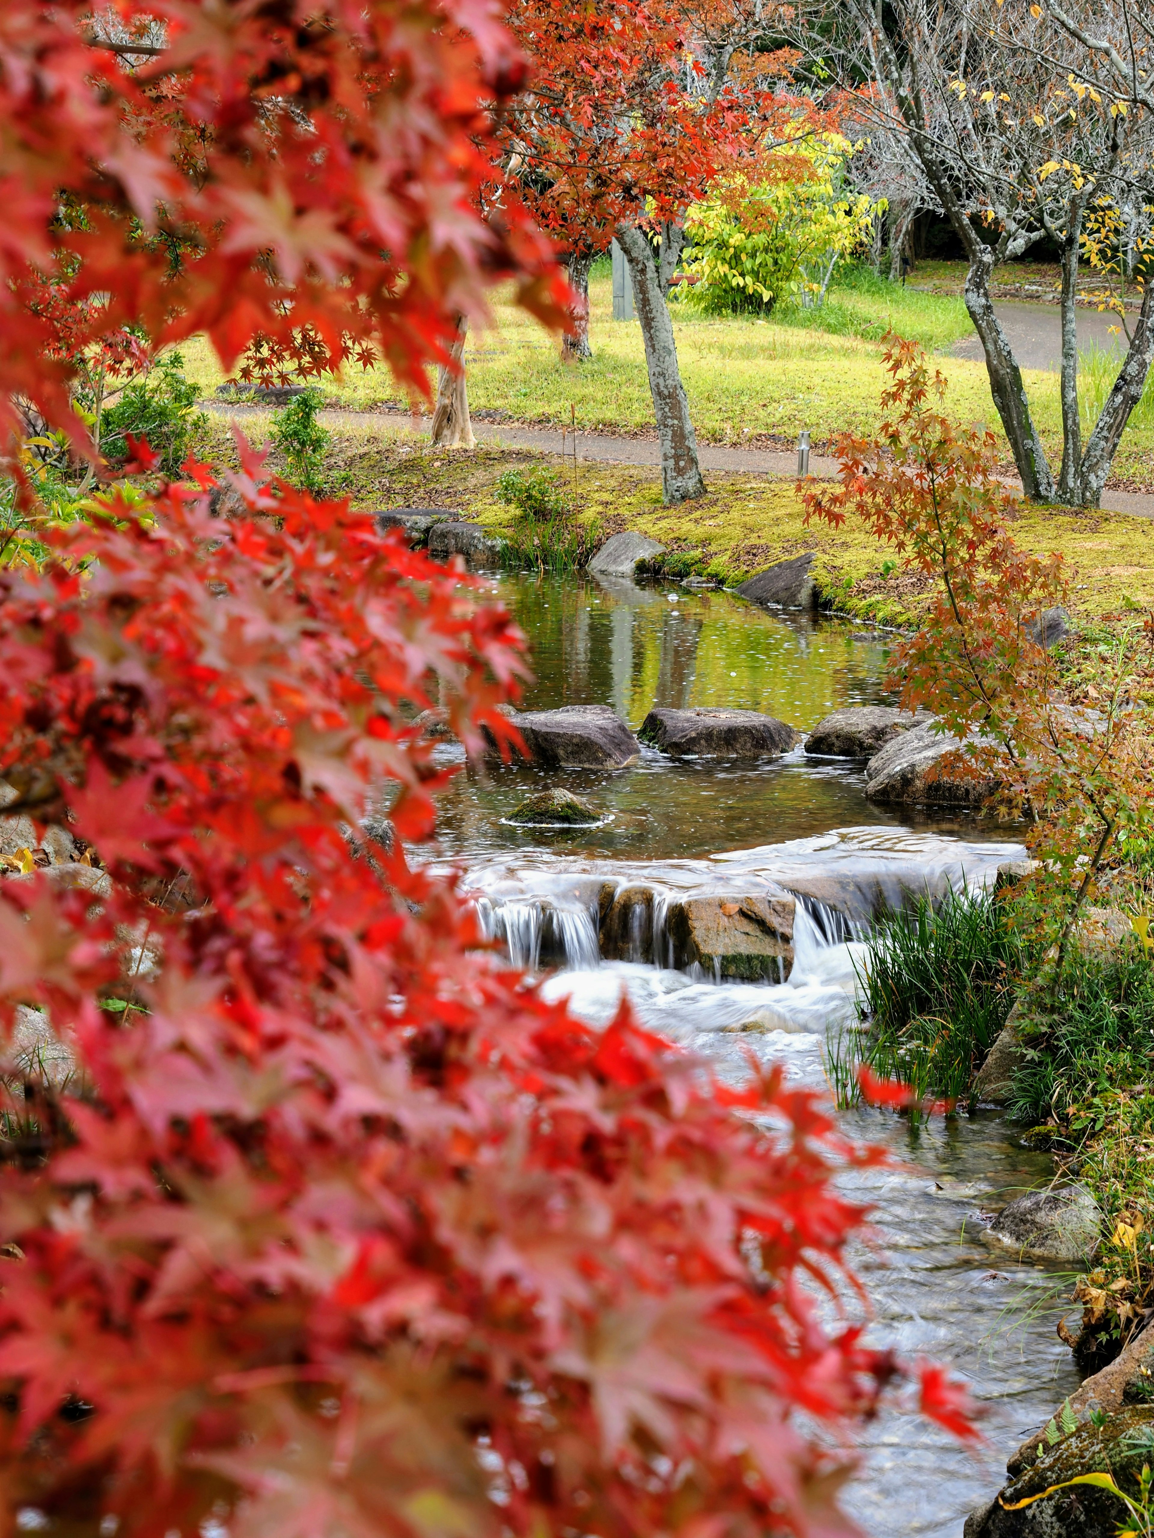
<svg viewBox="0 0 1154 1538"><path fill-rule="evenodd" d="M862 1026L829 1049L839 1103L857 1098L857 1070L908 1084L917 1100L965 1101L1006 1023L1028 963L1006 904L991 892L946 892L934 907L888 914L859 969Z"/></svg>

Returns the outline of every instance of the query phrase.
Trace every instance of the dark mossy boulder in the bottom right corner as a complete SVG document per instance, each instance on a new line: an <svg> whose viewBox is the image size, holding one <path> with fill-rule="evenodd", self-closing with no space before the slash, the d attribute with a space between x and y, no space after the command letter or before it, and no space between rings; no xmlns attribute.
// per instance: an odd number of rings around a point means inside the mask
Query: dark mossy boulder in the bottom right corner
<svg viewBox="0 0 1154 1538"><path fill-rule="evenodd" d="M1083 1473L1109 1473L1134 1495L1142 1464L1149 1461L1154 1406L1128 1406L1063 1433L1065 1420L1051 1421L1051 1435L1034 1438L1025 1458L1011 1458L1009 1481L988 1506L969 1513L965 1538L1105 1538L1119 1530L1126 1507L1117 1495L1092 1484L1054 1486ZM1052 1495L1043 1496L1046 1490ZM1009 1509L1031 1496L1043 1498Z"/></svg>

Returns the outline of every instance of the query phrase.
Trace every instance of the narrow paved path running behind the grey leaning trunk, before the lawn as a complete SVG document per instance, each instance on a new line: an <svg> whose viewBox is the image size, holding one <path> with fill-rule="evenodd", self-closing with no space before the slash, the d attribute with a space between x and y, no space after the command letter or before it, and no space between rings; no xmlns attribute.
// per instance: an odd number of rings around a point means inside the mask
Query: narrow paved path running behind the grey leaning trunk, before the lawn
<svg viewBox="0 0 1154 1538"><path fill-rule="evenodd" d="M271 415L262 406L232 406L212 400L202 401L202 404L228 414L242 426L246 420ZM375 428L391 437L428 438L428 426L417 418L414 428L414 418L403 411L322 411L320 420L326 428L355 423L359 428ZM560 428L514 428L505 423L474 421L472 431L479 443L511 449L535 449L539 454L560 455L563 441L565 452L572 455L572 438L566 432L562 440ZM655 438L614 438L600 432L577 434L577 458L600 464L652 468L660 464ZM797 454L780 449L728 449L706 443L699 448L699 458L703 471L742 471L746 475L783 475L789 478L797 475ZM834 480L837 460L825 454L811 454L809 474L817 480ZM1140 518L1154 518L1154 494L1151 492L1108 491L1102 497L1102 506L1111 512L1132 512Z"/></svg>

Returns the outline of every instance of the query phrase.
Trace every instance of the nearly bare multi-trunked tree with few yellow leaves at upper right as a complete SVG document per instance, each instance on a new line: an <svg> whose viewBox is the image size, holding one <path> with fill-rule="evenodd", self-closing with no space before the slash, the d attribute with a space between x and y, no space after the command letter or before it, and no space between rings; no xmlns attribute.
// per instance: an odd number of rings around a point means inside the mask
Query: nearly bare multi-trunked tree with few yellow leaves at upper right
<svg viewBox="0 0 1154 1538"><path fill-rule="evenodd" d="M1149 180L1154 118L1085 83L1092 63L1026 0L848 0L866 69L862 97L906 137L969 261L965 298L982 340L991 392L1029 497L1096 506L1119 438L1154 357L1146 295L1116 388L1083 443L1077 406L1079 265L1092 257L1094 209L1132 205ZM823 38L823 46L826 40ZM1063 452L1054 475L1022 371L989 297L996 268L1048 235L1062 252Z"/></svg>

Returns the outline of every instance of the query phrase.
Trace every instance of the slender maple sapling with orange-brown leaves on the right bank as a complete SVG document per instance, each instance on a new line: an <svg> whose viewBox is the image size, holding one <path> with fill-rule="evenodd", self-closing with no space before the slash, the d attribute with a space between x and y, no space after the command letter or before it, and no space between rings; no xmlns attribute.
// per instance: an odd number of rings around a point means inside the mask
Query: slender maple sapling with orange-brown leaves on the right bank
<svg viewBox="0 0 1154 1538"><path fill-rule="evenodd" d="M922 624L894 651L892 675L903 707L932 711L965 744L972 772L997 781L1000 798L1029 818L1057 975L1111 844L1149 834L1154 763L1142 698L1154 635L1123 624L1097 677L1063 674L1042 641L1046 614L1069 601L1069 577L1060 555L1031 555L1012 538L994 435L945 415L946 380L916 343L891 338L885 361L892 384L880 432L839 438L840 486L802 484L806 520L837 528L855 514L934 581Z"/></svg>

